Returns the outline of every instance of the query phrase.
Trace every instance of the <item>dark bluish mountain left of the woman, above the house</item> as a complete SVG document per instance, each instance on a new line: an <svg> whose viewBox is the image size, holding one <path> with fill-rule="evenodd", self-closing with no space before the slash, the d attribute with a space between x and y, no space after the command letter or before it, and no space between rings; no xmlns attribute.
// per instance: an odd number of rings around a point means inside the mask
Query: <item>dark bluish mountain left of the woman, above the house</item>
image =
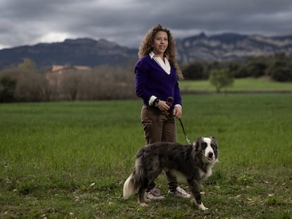
<svg viewBox="0 0 292 219"><path fill-rule="evenodd" d="M0 50L0 69L23 58L31 58L38 68L51 65L121 65L130 57L137 56L138 49L119 46L106 39L66 39L64 42L36 44L34 46L18 46Z"/></svg>

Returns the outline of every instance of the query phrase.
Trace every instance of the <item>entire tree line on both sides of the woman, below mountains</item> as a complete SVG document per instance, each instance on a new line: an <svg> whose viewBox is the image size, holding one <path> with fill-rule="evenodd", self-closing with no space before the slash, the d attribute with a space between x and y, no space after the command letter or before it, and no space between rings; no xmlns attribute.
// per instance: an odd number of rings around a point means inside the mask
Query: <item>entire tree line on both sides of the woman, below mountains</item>
<svg viewBox="0 0 292 219"><path fill-rule="evenodd" d="M135 98L135 61L123 66L101 65L90 71L70 68L49 81L49 70L38 70L30 58L0 71L0 102L75 101ZM209 80L217 92L234 78L270 77L279 82L292 81L292 56L275 54L244 61L194 61L181 65L185 80Z"/></svg>

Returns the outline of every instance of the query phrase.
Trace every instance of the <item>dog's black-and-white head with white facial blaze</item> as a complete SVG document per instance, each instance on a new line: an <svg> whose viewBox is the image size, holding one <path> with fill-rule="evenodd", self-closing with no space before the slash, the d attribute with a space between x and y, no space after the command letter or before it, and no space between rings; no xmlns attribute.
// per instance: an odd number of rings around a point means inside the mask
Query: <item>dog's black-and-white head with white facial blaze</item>
<svg viewBox="0 0 292 219"><path fill-rule="evenodd" d="M215 163L218 161L218 144L214 137L197 137L193 147L194 156L201 156L204 163Z"/></svg>

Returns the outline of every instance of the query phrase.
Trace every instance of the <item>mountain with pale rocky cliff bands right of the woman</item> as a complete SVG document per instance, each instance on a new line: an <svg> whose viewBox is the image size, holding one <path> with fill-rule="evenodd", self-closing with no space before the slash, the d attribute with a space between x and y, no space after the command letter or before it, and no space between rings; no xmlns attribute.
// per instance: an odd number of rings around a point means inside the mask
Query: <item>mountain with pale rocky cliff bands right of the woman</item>
<svg viewBox="0 0 292 219"><path fill-rule="evenodd" d="M224 33L207 37L205 33L176 41L178 59L183 63L194 60L222 61L249 56L268 56L279 52L292 54L292 35L264 37Z"/></svg>

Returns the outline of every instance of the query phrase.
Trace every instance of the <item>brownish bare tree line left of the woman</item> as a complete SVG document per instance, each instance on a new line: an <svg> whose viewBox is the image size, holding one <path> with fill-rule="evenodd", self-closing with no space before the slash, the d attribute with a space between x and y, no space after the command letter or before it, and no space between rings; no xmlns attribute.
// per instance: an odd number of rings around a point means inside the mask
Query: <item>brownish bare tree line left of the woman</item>
<svg viewBox="0 0 292 219"><path fill-rule="evenodd" d="M68 68L52 81L48 69L37 70L34 61L25 58L1 70L0 102L131 99L135 97L133 65L101 65L90 71Z"/></svg>

